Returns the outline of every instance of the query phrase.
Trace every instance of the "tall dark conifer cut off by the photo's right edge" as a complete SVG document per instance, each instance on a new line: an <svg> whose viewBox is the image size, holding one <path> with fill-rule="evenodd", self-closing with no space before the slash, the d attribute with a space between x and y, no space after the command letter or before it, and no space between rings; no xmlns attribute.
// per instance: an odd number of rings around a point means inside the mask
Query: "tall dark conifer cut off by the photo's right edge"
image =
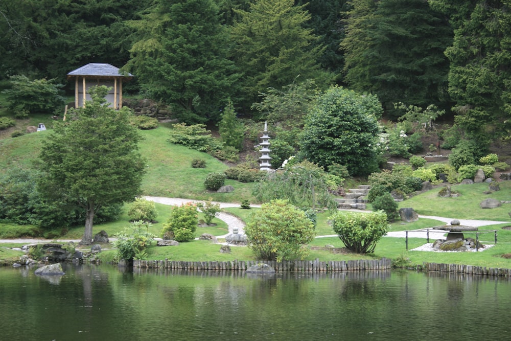
<svg viewBox="0 0 511 341"><path fill-rule="evenodd" d="M479 141L511 130L511 2L431 1L451 18L447 48L455 122Z"/></svg>

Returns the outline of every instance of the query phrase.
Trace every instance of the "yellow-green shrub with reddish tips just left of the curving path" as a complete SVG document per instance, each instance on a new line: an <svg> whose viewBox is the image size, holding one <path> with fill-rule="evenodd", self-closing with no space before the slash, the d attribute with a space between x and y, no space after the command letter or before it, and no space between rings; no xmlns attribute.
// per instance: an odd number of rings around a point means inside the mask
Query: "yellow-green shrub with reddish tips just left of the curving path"
<svg viewBox="0 0 511 341"><path fill-rule="evenodd" d="M163 224L161 236L172 232L178 242L193 240L198 223L197 206L192 202L184 203L172 209L169 220Z"/></svg>

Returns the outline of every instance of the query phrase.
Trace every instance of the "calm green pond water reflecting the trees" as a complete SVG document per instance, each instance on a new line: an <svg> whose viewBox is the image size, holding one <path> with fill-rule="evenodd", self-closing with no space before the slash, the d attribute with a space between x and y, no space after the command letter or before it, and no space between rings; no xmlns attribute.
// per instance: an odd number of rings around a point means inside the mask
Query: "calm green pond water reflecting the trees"
<svg viewBox="0 0 511 341"><path fill-rule="evenodd" d="M511 339L511 281L413 271L0 269L4 340Z"/></svg>

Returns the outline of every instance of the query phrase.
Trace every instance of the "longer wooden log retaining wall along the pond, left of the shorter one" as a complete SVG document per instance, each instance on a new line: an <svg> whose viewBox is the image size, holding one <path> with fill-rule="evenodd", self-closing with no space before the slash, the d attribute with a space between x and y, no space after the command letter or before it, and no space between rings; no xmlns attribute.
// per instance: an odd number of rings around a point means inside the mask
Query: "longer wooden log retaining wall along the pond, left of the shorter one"
<svg viewBox="0 0 511 341"><path fill-rule="evenodd" d="M165 260L133 260L134 268L156 268L156 269L182 269L182 270L246 270L251 265L265 263L276 271L353 271L353 270L384 270L392 267L388 258L380 260L351 260L351 261L207 261L188 262Z"/></svg>

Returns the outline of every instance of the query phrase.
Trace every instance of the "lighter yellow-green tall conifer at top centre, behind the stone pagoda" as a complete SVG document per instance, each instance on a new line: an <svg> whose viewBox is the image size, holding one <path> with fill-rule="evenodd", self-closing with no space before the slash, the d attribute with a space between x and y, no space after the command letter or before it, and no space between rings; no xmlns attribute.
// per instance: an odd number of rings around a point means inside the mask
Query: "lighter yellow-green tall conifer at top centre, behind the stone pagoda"
<svg viewBox="0 0 511 341"><path fill-rule="evenodd" d="M332 74L320 70L323 48L312 29L305 28L311 15L293 0L260 0L249 11L236 11L241 17L231 28L235 42L233 58L243 72L245 105L257 101L268 87L282 88L299 80L316 79L329 84Z"/></svg>

